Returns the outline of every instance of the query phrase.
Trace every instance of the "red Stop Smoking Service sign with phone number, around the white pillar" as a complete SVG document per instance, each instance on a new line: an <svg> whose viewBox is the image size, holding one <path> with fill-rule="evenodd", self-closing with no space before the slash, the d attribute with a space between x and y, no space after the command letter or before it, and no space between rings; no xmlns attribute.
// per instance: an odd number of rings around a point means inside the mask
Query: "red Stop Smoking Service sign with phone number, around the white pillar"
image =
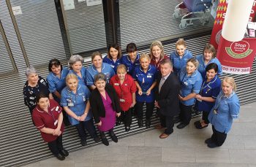
<svg viewBox="0 0 256 167"><path fill-rule="evenodd" d="M221 36L217 58L222 71L228 74L249 74L256 54L256 38L229 42Z"/></svg>

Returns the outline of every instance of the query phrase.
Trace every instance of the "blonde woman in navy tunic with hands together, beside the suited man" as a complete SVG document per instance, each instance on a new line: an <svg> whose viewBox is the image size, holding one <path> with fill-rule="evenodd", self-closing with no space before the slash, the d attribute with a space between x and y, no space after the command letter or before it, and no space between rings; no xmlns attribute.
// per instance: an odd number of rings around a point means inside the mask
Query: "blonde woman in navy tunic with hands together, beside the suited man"
<svg viewBox="0 0 256 167"><path fill-rule="evenodd" d="M146 102L146 128L150 128L154 109L154 87L157 85L157 68L150 63L149 55L140 56L140 66L133 71L133 79L138 88L136 92L135 111L138 114L138 125L143 127L143 105Z"/></svg>

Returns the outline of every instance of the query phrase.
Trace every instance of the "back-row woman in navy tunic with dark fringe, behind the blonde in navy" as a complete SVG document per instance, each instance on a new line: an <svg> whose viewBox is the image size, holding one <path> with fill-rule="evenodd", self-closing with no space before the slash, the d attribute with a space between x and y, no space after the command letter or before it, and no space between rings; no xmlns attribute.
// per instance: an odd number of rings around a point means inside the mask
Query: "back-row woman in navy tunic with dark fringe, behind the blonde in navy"
<svg viewBox="0 0 256 167"><path fill-rule="evenodd" d="M130 75L133 74L135 66L140 65L140 55L135 43L127 44L127 54L122 56L121 63L127 66L127 73Z"/></svg>

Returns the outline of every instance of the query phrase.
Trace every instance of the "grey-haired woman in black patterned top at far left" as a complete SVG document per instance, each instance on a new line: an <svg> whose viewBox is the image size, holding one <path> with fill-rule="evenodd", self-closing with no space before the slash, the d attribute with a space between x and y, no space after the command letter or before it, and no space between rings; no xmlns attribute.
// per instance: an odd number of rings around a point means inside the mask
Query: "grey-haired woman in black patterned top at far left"
<svg viewBox="0 0 256 167"><path fill-rule="evenodd" d="M49 96L48 82L38 75L37 69L34 66L29 66L26 69L27 81L23 88L24 104L29 107L29 112L32 114L34 107L37 105L36 96L39 93L44 93ZM50 94L49 98L53 98Z"/></svg>

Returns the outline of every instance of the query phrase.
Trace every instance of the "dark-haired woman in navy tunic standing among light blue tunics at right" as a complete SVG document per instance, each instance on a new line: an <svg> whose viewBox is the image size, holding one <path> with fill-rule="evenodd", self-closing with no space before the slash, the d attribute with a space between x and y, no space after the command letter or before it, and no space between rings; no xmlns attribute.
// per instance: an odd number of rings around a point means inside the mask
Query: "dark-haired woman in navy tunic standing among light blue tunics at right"
<svg viewBox="0 0 256 167"><path fill-rule="evenodd" d="M214 106L215 99L219 95L222 82L218 75L218 65L209 63L206 67L206 77L203 77L203 85L200 93L195 96L197 98L197 109L203 112L202 120L196 121L195 128L201 129L208 126L208 114Z"/></svg>

